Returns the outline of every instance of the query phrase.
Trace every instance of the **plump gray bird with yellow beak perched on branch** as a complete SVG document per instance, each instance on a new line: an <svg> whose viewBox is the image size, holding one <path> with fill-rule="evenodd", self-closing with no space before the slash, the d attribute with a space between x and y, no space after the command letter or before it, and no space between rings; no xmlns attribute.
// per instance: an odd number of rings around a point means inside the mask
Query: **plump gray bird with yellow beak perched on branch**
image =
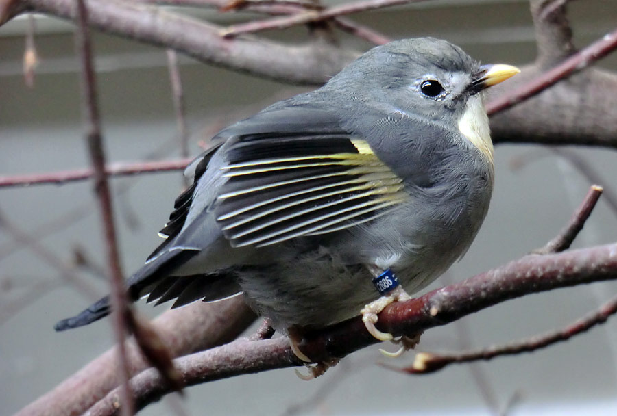
<svg viewBox="0 0 617 416"><path fill-rule="evenodd" d="M481 92L518 72L444 40L398 40L224 129L186 169L193 185L128 279L130 299L179 307L243 294L278 330L361 313L391 339L377 313L459 259L486 216ZM56 330L108 313L103 298Z"/></svg>

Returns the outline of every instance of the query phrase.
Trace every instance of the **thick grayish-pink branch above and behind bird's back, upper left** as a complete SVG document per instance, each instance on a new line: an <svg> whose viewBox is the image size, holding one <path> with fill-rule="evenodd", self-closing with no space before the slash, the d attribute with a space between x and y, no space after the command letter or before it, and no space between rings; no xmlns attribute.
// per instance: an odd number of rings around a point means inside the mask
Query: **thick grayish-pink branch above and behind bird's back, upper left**
<svg viewBox="0 0 617 416"><path fill-rule="evenodd" d="M23 0L29 10L75 20L73 0ZM186 53L197 60L287 83L320 85L359 53L327 42L285 46L243 36L220 36L221 27L143 4L89 0L95 29ZM268 65L264 65L267 57Z"/></svg>

